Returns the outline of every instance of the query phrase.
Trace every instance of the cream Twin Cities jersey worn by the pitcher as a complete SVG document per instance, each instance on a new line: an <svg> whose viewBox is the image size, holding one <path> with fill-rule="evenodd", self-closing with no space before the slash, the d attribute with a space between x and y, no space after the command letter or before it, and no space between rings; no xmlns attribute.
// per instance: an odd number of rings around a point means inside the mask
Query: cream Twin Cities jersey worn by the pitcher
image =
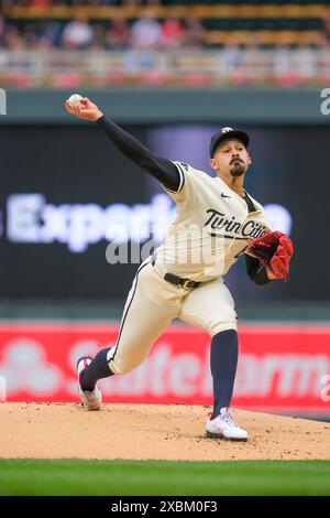
<svg viewBox="0 0 330 518"><path fill-rule="evenodd" d="M177 192L165 191L177 204L175 220L155 250L160 273L172 272L195 281L224 276L251 239L271 230L260 203L255 212L221 179L183 162Z"/></svg>

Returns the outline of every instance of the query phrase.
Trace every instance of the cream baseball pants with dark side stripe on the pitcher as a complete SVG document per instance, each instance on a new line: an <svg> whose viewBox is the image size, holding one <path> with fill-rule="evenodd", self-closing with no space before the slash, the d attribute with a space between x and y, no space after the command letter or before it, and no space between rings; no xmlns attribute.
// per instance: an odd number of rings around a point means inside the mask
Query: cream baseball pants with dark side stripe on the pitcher
<svg viewBox="0 0 330 518"><path fill-rule="evenodd" d="M138 367L175 317L210 336L237 330L234 302L222 278L187 290L165 281L148 258L136 272L117 344L108 353L112 373L125 374Z"/></svg>

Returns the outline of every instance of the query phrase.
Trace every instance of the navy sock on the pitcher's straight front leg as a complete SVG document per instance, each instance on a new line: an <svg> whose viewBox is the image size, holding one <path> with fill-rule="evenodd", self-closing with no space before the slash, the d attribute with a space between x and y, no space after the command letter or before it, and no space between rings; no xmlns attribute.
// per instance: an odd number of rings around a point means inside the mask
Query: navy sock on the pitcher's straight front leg
<svg viewBox="0 0 330 518"><path fill-rule="evenodd" d="M221 408L230 407L239 357L238 333L222 331L212 337L211 374L213 377L213 413L219 416Z"/></svg>

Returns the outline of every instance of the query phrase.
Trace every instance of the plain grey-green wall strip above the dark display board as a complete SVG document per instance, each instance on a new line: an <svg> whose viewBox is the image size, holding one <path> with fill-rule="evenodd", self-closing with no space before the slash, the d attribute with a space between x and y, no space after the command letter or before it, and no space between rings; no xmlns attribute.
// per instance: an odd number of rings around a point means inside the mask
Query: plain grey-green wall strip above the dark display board
<svg viewBox="0 0 330 518"><path fill-rule="evenodd" d="M330 123L330 88L78 88L120 123ZM76 87L74 88L76 89ZM8 89L7 123L77 123L64 109L72 89ZM0 110L1 114L1 110Z"/></svg>

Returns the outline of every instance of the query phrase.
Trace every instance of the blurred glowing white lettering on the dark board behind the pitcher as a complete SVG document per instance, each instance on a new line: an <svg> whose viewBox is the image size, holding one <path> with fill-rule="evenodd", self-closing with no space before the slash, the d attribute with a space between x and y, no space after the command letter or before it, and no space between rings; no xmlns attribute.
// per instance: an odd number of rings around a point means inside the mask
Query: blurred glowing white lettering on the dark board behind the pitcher
<svg viewBox="0 0 330 518"><path fill-rule="evenodd" d="M286 207L268 204L265 211L274 228L290 234L292 216ZM166 194L156 194L146 204L117 203L107 207L97 203L54 205L41 193L11 194L7 238L18 244L57 241L75 253L85 252L102 239L117 244L143 244L147 239L161 242L175 212Z"/></svg>

